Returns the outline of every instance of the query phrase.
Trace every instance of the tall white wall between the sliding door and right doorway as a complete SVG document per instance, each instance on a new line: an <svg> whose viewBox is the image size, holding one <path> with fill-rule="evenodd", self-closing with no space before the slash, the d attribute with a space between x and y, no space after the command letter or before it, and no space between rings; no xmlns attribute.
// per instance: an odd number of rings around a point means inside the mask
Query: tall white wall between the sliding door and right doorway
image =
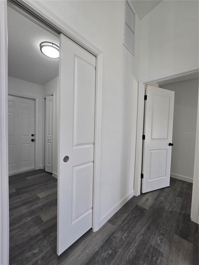
<svg viewBox="0 0 199 265"><path fill-rule="evenodd" d="M99 226L133 195L139 19L135 57L123 45L123 1L39 1L103 52Z"/></svg>

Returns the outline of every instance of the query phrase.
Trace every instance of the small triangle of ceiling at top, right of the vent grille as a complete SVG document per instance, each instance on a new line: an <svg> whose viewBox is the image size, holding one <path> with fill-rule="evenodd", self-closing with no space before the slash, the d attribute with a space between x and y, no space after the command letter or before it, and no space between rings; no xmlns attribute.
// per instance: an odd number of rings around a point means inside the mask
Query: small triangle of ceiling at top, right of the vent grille
<svg viewBox="0 0 199 265"><path fill-rule="evenodd" d="M151 10L153 10L160 2L158 0L131 0L130 1L137 16L141 20L145 17Z"/></svg>

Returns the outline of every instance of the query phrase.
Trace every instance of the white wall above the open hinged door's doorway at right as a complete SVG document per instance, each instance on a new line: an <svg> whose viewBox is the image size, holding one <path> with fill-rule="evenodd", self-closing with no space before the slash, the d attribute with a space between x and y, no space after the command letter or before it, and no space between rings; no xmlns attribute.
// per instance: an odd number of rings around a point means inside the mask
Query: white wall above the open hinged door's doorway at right
<svg viewBox="0 0 199 265"><path fill-rule="evenodd" d="M140 21L140 80L197 66L198 1L162 1Z"/></svg>

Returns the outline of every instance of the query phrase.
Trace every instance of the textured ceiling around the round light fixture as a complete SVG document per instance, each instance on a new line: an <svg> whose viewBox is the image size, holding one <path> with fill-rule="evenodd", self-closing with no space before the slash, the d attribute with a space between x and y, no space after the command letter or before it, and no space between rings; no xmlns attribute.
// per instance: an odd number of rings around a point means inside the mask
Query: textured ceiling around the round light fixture
<svg viewBox="0 0 199 265"><path fill-rule="evenodd" d="M50 41L59 46L59 39L7 7L8 75L38 85L58 76L59 59L46 57L39 44Z"/></svg>

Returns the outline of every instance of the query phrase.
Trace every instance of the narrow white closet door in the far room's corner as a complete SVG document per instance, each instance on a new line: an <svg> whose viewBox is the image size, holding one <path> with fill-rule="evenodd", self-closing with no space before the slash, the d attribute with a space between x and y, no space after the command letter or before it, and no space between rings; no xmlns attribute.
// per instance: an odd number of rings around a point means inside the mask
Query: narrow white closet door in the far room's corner
<svg viewBox="0 0 199 265"><path fill-rule="evenodd" d="M53 96L46 97L45 106L45 171L53 173Z"/></svg>

